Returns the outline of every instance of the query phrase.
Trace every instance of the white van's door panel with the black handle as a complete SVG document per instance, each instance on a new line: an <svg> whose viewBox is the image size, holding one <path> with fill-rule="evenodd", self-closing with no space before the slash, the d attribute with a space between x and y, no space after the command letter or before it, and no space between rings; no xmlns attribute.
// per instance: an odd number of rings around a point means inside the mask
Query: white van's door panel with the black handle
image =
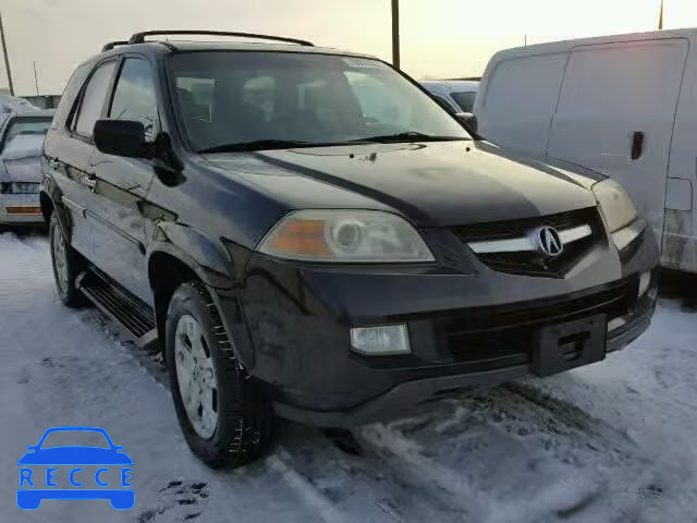
<svg viewBox="0 0 697 523"><path fill-rule="evenodd" d="M657 238L688 41L580 46L572 50L547 153L616 179Z"/></svg>

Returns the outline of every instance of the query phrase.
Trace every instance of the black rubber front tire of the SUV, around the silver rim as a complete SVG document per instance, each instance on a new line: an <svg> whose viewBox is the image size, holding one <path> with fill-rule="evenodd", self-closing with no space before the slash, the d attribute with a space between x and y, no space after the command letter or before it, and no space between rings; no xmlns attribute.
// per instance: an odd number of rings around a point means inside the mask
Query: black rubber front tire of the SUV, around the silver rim
<svg viewBox="0 0 697 523"><path fill-rule="evenodd" d="M217 424L209 438L194 428L180 391L175 339L184 316L199 324L215 369ZM166 323L166 362L176 417L186 442L200 461L212 469L236 467L268 450L274 433L271 404L240 365L233 340L225 332L206 287L198 281L182 283L172 296Z"/></svg>

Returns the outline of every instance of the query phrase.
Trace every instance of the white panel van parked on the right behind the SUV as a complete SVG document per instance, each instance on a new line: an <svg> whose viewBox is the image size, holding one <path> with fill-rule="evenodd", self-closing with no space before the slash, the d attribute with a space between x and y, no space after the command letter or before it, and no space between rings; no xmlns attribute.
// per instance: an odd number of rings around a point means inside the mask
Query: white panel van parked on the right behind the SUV
<svg viewBox="0 0 697 523"><path fill-rule="evenodd" d="M662 265L697 272L697 29L500 51L474 112L493 143L616 179Z"/></svg>

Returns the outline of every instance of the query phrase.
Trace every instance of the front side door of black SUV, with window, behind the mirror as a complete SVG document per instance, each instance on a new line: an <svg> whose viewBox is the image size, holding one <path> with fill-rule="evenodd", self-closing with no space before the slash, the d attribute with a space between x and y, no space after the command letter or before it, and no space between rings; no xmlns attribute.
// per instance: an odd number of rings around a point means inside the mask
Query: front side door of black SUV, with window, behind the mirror
<svg viewBox="0 0 697 523"><path fill-rule="evenodd" d="M119 65L105 115L144 124L146 142L159 132L154 69L145 58L127 56ZM142 203L155 175L150 160L105 155L95 149L90 222L97 266L146 302L151 301L145 262Z"/></svg>

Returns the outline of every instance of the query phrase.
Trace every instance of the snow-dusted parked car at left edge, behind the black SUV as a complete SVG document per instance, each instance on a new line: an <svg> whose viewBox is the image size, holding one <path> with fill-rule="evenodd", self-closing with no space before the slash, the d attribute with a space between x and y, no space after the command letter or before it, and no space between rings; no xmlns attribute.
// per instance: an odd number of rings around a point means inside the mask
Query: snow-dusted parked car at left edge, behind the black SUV
<svg viewBox="0 0 697 523"><path fill-rule="evenodd" d="M52 110L12 112L0 125L0 226L42 226L41 148Z"/></svg>

